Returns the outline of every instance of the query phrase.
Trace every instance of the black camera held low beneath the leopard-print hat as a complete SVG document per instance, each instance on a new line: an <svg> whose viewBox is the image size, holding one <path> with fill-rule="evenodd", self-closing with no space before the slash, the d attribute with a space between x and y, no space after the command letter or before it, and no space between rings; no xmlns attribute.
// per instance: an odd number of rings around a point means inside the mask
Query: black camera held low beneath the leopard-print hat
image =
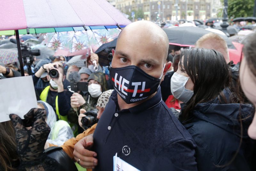
<svg viewBox="0 0 256 171"><path fill-rule="evenodd" d="M84 129L88 129L93 124L98 123L99 119L97 119L97 113L98 113L97 109L93 109L84 113L84 115L86 116L82 117L82 120L81 120Z"/></svg>

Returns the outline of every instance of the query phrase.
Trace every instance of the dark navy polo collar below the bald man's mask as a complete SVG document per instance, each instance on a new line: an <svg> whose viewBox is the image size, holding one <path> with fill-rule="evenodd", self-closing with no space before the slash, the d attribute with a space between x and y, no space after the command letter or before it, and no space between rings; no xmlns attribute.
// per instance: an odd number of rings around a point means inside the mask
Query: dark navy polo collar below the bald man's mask
<svg viewBox="0 0 256 171"><path fill-rule="evenodd" d="M117 92L116 92L116 90L114 90L112 92L111 98L112 98L113 101L115 101L116 106L119 107L118 106L118 102L117 102ZM152 107L156 106L161 101L162 101L162 94L161 94L161 88L159 86L159 88L157 89L156 94L153 97L151 97L149 100L144 101L143 103L141 103L141 104L139 104L137 106L129 108L128 110L131 113L134 113L134 114L140 113L142 111L145 111L145 110L147 110L149 108L152 108ZM124 109L124 110L127 110L127 109Z"/></svg>

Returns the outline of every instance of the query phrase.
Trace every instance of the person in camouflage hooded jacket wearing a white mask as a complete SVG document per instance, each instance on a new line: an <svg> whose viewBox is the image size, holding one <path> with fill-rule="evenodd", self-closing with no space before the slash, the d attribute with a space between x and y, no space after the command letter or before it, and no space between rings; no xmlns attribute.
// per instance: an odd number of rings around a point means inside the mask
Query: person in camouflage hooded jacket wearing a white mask
<svg viewBox="0 0 256 171"><path fill-rule="evenodd" d="M96 108L97 101L102 92L107 90L107 80L100 72L92 73L88 78L88 92L85 96L73 93L71 96L71 109L68 113L68 120L78 125L78 114L80 109L86 111ZM82 130L83 131L83 130ZM82 132L81 130L79 132Z"/></svg>

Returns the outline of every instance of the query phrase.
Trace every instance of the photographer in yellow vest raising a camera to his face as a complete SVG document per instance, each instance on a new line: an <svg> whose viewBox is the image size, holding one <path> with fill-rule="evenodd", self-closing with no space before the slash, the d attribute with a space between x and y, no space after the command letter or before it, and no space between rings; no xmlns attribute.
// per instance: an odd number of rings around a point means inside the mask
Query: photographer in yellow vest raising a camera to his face
<svg viewBox="0 0 256 171"><path fill-rule="evenodd" d="M53 78L49 72L54 69L55 74L58 77ZM40 67L40 69L33 75L33 82L36 85L36 82L39 80L41 75L47 71L48 77L47 79L50 81L50 85L43 88L36 87L35 90L37 93L37 97L42 101L49 103L54 111L57 114L57 120L65 120L68 121L67 115L68 111L71 108L70 106L70 97L71 93L68 91L64 91L63 81L65 79L63 68L58 65L58 63L48 63L44 64Z"/></svg>

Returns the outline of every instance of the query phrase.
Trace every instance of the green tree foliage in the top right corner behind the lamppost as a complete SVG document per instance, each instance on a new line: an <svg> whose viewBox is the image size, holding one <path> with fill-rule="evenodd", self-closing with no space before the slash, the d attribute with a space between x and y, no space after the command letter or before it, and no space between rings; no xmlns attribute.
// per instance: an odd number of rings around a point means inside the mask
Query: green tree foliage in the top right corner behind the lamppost
<svg viewBox="0 0 256 171"><path fill-rule="evenodd" d="M221 0L224 6L224 0ZM228 17L250 17L253 14L254 0L228 0Z"/></svg>

